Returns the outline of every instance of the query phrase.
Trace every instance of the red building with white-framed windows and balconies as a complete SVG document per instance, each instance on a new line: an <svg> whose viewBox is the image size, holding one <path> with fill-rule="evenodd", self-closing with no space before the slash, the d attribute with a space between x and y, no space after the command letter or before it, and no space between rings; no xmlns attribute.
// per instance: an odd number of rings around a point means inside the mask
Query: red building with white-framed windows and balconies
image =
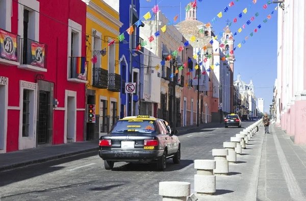
<svg viewBox="0 0 306 201"><path fill-rule="evenodd" d="M81 0L0 1L0 153L84 140L85 31Z"/></svg>

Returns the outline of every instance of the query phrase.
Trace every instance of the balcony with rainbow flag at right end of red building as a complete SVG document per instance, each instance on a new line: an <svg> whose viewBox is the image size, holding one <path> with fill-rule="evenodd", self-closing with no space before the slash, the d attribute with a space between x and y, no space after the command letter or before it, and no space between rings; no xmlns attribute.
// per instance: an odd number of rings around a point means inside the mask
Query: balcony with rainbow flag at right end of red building
<svg viewBox="0 0 306 201"><path fill-rule="evenodd" d="M67 80L75 83L87 84L86 57L69 57L69 70Z"/></svg>

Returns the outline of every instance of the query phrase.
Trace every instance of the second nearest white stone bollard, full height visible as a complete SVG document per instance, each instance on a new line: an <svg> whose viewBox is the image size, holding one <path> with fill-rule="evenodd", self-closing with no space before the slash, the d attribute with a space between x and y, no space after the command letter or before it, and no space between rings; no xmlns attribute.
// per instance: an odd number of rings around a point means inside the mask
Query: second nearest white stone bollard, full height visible
<svg viewBox="0 0 306 201"><path fill-rule="evenodd" d="M216 192L216 161L194 160L194 168L197 174L194 175L194 191L199 194L214 194Z"/></svg>

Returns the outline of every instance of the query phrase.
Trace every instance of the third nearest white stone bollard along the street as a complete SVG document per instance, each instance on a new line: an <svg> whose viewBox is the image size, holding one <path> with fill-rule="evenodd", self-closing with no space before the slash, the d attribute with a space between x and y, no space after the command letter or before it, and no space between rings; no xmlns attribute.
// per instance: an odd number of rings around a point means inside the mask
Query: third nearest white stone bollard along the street
<svg viewBox="0 0 306 201"><path fill-rule="evenodd" d="M228 155L227 149L213 149L212 155L215 157L216 169L214 169L214 174L227 174L228 173L228 161L226 156Z"/></svg>

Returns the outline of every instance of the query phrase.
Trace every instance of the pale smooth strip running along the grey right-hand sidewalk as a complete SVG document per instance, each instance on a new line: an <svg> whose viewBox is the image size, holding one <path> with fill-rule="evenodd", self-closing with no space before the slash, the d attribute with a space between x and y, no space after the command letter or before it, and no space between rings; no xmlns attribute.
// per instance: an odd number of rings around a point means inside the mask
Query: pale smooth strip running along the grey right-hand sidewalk
<svg viewBox="0 0 306 201"><path fill-rule="evenodd" d="M290 165L286 159L286 156L284 154L283 148L281 144L278 141L278 137L276 136L275 132L273 132L273 138L275 143L275 148L278 156L279 162L282 164L282 170L284 173L284 178L287 184L287 188L289 190L290 196L294 200L305 200L305 197L302 193L301 188L299 187L294 174L292 172L292 169L290 168Z"/></svg>

